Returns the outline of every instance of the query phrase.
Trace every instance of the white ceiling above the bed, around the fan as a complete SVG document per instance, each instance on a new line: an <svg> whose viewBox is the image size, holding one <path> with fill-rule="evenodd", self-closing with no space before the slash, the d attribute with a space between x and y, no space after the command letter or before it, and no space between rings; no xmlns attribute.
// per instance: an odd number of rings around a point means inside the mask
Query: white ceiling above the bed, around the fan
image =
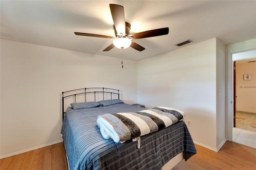
<svg viewBox="0 0 256 170"><path fill-rule="evenodd" d="M84 32L114 36L109 4L124 6L130 34L169 27L169 34L133 40L144 51L113 48L112 39L76 36ZM181 47L180 42L219 38L226 45L256 38L256 1L0 1L0 38L17 42L141 60ZM184 45L184 46L187 46ZM184 47L182 46L182 47Z"/></svg>

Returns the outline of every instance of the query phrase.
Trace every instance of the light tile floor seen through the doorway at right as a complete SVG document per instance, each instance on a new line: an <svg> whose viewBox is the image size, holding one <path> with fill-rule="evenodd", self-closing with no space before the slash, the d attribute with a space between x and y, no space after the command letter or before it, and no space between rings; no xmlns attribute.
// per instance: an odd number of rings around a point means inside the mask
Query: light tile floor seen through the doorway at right
<svg viewBox="0 0 256 170"><path fill-rule="evenodd" d="M251 126L252 120L256 119L256 115L241 113L236 113L236 115L244 115L246 119L236 119L236 127L233 128L232 141L256 148L256 128Z"/></svg>

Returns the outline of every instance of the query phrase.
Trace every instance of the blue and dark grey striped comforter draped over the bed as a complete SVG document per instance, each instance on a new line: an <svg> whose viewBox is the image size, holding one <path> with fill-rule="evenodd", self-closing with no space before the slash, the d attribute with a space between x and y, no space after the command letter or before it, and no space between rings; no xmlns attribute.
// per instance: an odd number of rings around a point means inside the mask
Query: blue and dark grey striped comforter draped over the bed
<svg viewBox="0 0 256 170"><path fill-rule="evenodd" d="M97 126L99 115L141 110L144 108L125 103L68 110L65 113L61 134L70 170L157 170L180 152L184 152L185 160L196 154L196 148L184 121L141 136L140 149L132 140L116 143L102 137Z"/></svg>

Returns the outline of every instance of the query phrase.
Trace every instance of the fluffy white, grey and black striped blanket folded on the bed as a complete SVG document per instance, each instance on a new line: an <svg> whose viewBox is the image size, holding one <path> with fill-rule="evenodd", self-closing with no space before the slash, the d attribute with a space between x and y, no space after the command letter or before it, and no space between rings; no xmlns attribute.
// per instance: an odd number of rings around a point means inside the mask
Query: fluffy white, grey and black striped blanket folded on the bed
<svg viewBox="0 0 256 170"><path fill-rule="evenodd" d="M98 127L105 139L125 142L138 141L140 136L166 128L185 117L185 113L170 107L154 107L139 112L104 114L97 118Z"/></svg>

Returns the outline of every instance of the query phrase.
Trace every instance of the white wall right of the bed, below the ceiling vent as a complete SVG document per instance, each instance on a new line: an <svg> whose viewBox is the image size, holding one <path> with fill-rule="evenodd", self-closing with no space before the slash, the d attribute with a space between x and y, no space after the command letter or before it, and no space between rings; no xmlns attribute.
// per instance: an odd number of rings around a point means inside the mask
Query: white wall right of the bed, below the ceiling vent
<svg viewBox="0 0 256 170"><path fill-rule="evenodd" d="M221 54L216 47L221 47ZM219 132L224 131L225 125L216 128L216 116L224 117L224 103L218 108L220 114L217 115L216 109L224 100L225 81L216 73L216 64L224 60L224 48L223 43L213 38L138 61L138 103L148 108L167 106L185 111L185 122L192 122L188 128L193 140L212 150L219 147L216 136L225 139ZM216 55L223 59L217 59ZM220 67L222 73L224 64ZM216 100L217 79L223 93L220 96L223 99L219 100Z"/></svg>

